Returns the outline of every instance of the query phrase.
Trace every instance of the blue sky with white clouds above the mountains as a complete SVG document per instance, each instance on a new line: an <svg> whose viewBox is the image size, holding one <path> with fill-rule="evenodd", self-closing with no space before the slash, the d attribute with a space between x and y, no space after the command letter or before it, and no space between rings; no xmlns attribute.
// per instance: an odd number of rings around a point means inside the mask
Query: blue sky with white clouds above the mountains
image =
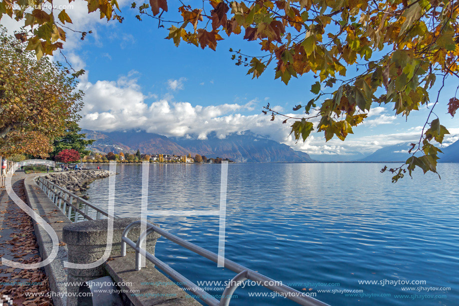
<svg viewBox="0 0 459 306"><path fill-rule="evenodd" d="M66 4L64 0L62 3ZM177 15L178 3L168 2L168 18ZM386 145L418 139L419 127L425 122L427 109L413 112L405 121L401 116L393 117L393 105L373 105L367 123L354 128L354 135L345 142L333 139L326 143L322 133L313 133L306 143L295 144L288 137L289 127L280 119L270 122L261 110L269 102L280 111L292 113L294 105L313 97L309 91L316 81L312 74L292 78L286 86L274 80L273 67L269 67L259 79L252 80L246 75L246 67L235 66L230 59L230 48L260 54L258 44L243 41L242 36L219 41L216 52L183 42L177 48L172 40L164 39L169 31L158 29L156 21L145 17L139 22L129 2L120 2L125 18L122 24L100 21L97 14L88 15L82 1L73 4L74 9L67 11L75 27L94 32L85 41L69 34L64 45L73 66L87 71L80 85L86 93L83 128L144 129L199 138L212 130L223 138L227 133L250 129L315 156L339 154L352 159L358 152L368 154ZM2 24L11 31L18 28L16 22L6 18ZM57 56L56 60L62 58ZM459 139L457 120L446 114L447 100L456 86L457 80L450 78L436 107L440 122L452 134L447 144Z"/></svg>

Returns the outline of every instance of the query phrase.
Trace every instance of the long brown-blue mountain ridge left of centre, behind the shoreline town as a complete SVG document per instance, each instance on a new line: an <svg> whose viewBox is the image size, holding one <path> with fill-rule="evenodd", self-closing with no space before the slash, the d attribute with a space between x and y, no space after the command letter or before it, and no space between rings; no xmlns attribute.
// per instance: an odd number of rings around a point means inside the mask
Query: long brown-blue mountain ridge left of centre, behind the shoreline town
<svg viewBox="0 0 459 306"><path fill-rule="evenodd" d="M233 133L219 139L210 133L205 140L168 138L144 131L96 132L82 130L88 139L96 141L89 147L100 152L135 152L147 154L186 155L191 153L229 158L236 162L311 162L307 153L295 151L285 144L256 135L250 131Z"/></svg>

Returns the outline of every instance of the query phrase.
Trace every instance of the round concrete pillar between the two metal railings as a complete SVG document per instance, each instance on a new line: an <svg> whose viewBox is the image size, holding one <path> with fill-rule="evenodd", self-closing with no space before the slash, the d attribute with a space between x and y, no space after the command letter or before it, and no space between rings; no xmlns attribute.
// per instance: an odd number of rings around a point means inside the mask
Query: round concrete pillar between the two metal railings
<svg viewBox="0 0 459 306"><path fill-rule="evenodd" d="M121 236L123 231L134 221L140 218L121 218L113 221L113 244L110 256L119 256L121 254ZM154 223L153 223L154 224ZM158 224L155 224L159 226ZM108 219L91 220L78 223L72 223L63 228L63 241L67 243L69 250L69 262L73 263L92 263L102 258L107 244L107 227ZM140 235L140 226L136 226L128 234L128 238L137 241ZM160 237L157 233L152 233L147 238L147 251L155 253L156 240ZM127 252L135 252L132 247L127 246ZM146 261L147 265L153 263ZM135 262L132 262L132 268L135 269ZM107 276L105 263L92 269L74 269L69 268L67 274L68 282L84 282L91 279ZM78 292L79 286L68 286L67 292L72 294ZM67 297L67 306L76 306L77 297Z"/></svg>

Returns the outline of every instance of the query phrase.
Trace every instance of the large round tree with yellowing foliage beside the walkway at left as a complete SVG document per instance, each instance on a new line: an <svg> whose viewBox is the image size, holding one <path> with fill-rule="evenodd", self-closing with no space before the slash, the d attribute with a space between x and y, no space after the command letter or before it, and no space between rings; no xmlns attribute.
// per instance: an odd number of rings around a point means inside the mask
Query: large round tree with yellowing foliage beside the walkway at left
<svg viewBox="0 0 459 306"><path fill-rule="evenodd" d="M82 107L76 81L0 27L0 154L47 156Z"/></svg>

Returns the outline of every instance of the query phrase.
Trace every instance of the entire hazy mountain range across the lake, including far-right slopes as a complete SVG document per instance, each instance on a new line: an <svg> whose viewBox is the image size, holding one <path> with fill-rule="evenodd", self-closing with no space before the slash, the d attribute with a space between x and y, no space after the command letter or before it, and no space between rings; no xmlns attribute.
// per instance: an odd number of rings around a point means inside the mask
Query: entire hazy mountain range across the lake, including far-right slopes
<svg viewBox="0 0 459 306"><path fill-rule="evenodd" d="M383 147L365 156L359 152L345 155L313 155L295 151L267 137L250 131L233 133L218 138L210 133L207 139L166 137L145 131L97 132L82 130L87 139L96 141L89 149L96 152L135 153L139 149L146 154L205 155L208 158L229 158L236 162L313 162L313 161L357 161L357 162L403 162L408 159L409 142ZM439 162L459 162L459 140L442 149ZM352 158L354 157L354 158Z"/></svg>

